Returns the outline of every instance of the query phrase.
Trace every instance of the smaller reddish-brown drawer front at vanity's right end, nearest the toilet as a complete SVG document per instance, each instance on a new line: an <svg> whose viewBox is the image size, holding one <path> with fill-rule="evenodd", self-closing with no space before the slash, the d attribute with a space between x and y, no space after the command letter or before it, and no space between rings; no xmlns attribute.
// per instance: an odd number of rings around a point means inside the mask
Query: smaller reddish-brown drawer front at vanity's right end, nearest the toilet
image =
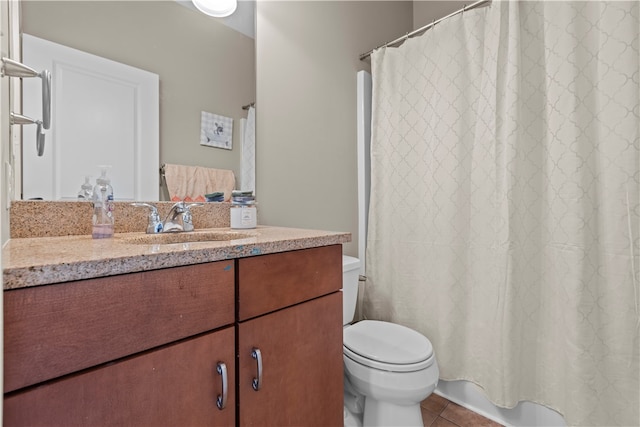
<svg viewBox="0 0 640 427"><path fill-rule="evenodd" d="M342 287L342 246L241 258L238 320L269 313Z"/></svg>

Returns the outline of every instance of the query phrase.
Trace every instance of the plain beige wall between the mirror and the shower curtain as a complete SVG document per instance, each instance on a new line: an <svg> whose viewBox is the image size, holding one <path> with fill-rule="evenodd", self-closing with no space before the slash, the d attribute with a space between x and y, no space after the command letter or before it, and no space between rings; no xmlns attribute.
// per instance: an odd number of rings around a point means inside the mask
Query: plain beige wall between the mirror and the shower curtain
<svg viewBox="0 0 640 427"><path fill-rule="evenodd" d="M357 255L358 56L411 27L411 2L257 2L260 223L348 231Z"/></svg>

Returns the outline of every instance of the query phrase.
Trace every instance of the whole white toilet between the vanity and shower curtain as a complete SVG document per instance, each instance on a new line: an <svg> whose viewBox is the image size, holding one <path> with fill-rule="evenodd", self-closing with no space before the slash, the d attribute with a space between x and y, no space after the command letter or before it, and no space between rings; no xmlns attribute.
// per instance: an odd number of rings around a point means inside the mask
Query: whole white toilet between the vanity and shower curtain
<svg viewBox="0 0 640 427"><path fill-rule="evenodd" d="M360 260L342 257L344 425L423 426L420 402L438 384L433 347L422 334L377 320L353 320Z"/></svg>

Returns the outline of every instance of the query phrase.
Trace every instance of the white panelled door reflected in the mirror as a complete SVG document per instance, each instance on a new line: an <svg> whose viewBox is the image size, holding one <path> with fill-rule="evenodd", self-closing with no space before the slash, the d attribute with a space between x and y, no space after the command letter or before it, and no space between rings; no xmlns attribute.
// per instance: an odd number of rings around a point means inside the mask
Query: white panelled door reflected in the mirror
<svg viewBox="0 0 640 427"><path fill-rule="evenodd" d="M110 165L116 200L159 199L157 74L28 34L23 63L51 71L51 128L44 155L23 126L23 199L75 200L98 166ZM41 81L23 79L23 114L42 119Z"/></svg>

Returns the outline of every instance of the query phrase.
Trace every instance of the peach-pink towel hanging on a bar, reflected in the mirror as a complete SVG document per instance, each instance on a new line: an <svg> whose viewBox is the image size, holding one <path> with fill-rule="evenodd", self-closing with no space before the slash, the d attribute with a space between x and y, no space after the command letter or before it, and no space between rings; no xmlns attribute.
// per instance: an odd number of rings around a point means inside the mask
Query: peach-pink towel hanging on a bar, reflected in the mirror
<svg viewBox="0 0 640 427"><path fill-rule="evenodd" d="M236 186L233 171L226 169L165 164L164 177L172 201L204 202L205 194L218 191L227 201Z"/></svg>

